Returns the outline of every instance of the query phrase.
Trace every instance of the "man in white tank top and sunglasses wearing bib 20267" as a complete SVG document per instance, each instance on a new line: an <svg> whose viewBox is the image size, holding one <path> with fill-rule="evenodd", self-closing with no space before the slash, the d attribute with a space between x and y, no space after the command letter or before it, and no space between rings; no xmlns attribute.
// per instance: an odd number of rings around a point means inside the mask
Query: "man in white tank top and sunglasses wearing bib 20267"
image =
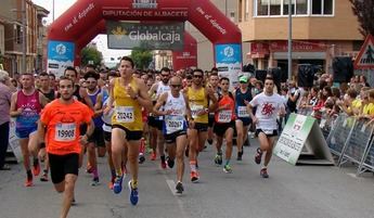
<svg viewBox="0 0 374 218"><path fill-rule="evenodd" d="M175 165L177 153L177 193L184 191L182 178L184 172L183 153L186 145L188 123L185 116L190 113L186 97L181 92L182 80L180 77L170 79L170 91L163 93L154 107L158 116L165 117L164 136L169 157L167 164L170 168ZM188 115L191 117L191 115Z"/></svg>

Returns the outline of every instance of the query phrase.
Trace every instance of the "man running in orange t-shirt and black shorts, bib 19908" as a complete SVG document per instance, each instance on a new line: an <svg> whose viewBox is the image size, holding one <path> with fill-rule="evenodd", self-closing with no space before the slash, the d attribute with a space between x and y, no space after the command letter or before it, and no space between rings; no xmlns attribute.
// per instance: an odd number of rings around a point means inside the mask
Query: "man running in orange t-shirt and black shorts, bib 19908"
<svg viewBox="0 0 374 218"><path fill-rule="evenodd" d="M74 82L61 77L59 92L61 97L48 104L41 113L38 127L40 138L44 138L51 167L51 178L57 192L64 192L61 218L67 217L74 188L78 178L80 142L87 144L94 124L93 112L83 103L73 98ZM79 126L87 124L87 132L80 137Z"/></svg>

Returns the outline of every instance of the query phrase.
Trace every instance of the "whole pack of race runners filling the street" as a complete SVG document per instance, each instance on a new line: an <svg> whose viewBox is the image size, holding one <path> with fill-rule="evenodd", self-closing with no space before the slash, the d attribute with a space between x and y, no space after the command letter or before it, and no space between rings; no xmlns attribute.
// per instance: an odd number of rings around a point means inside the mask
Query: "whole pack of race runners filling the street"
<svg viewBox="0 0 374 218"><path fill-rule="evenodd" d="M10 115L16 119L25 185L31 187L33 177L40 172L41 181L51 178L55 190L64 193L61 217L67 216L75 202L74 189L85 153L91 184L100 183L96 151L99 156L106 151L109 188L120 193L125 175L131 175L129 201L137 205L139 164L145 161L146 144L152 151L151 161L159 157L163 169L176 166L176 193L182 194L184 156L189 158L191 182L199 180L198 154L206 142L215 144L214 163L231 174L234 134L236 159L242 161L243 144L253 125L260 142L255 162L261 164L265 154L260 176L269 177L276 117L285 114L284 100L273 92L271 75L256 95L247 76L241 76L231 92L229 78L219 77L215 68L207 79L198 68L190 75L178 75L165 67L154 81L144 75L136 73L128 56L120 60L118 73L87 69L80 86L74 67L65 69L57 88L53 75L38 75L38 89L34 75L21 75L22 89L11 98Z"/></svg>

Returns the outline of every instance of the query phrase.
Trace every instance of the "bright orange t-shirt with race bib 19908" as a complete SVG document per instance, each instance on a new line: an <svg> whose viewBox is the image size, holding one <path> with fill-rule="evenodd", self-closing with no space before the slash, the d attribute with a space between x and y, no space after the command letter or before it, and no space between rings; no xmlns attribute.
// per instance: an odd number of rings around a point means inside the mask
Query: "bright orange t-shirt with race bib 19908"
<svg viewBox="0 0 374 218"><path fill-rule="evenodd" d="M93 112L83 103L74 100L62 104L52 101L41 112L41 123L47 125L47 152L56 155L80 153L79 126L89 123Z"/></svg>

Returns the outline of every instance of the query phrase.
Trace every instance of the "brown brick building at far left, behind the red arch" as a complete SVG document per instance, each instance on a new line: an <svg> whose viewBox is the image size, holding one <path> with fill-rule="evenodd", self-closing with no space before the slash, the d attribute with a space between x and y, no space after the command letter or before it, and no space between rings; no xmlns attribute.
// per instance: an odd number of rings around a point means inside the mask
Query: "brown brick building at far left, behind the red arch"
<svg viewBox="0 0 374 218"><path fill-rule="evenodd" d="M31 0L2 0L1 3L0 18L4 21L5 38L4 69L11 75L22 73L25 53L25 72L42 70L42 39L46 35L42 18L48 16L49 11Z"/></svg>

